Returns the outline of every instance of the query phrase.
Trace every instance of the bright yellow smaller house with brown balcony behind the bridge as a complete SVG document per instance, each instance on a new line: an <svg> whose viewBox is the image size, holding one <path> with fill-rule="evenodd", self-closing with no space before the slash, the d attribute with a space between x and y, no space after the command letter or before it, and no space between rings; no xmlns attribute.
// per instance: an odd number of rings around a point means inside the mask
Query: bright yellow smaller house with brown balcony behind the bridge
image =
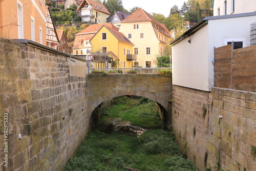
<svg viewBox="0 0 256 171"><path fill-rule="evenodd" d="M111 23L104 24L89 41L92 53L102 52L113 57L117 68L132 68L134 44ZM94 60L94 68L100 68Z"/></svg>

